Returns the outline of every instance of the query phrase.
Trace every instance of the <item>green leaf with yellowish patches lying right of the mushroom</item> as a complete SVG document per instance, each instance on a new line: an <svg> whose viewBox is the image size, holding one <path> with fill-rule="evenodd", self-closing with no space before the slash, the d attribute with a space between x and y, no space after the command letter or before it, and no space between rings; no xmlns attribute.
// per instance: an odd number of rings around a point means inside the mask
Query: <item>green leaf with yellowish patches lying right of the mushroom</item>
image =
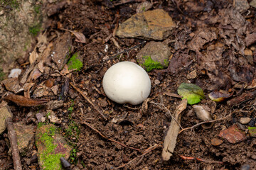
<svg viewBox="0 0 256 170"><path fill-rule="evenodd" d="M182 83L178 86L178 94L183 96L182 99L186 98L188 100L188 104L196 104L201 101L201 99L205 98L203 94L203 90L196 86L196 84L186 84Z"/></svg>

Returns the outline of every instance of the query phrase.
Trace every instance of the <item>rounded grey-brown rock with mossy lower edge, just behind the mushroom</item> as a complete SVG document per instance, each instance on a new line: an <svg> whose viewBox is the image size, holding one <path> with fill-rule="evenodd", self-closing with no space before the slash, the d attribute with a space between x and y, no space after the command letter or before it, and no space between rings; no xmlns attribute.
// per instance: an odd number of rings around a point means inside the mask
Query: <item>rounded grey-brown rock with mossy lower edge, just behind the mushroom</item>
<svg viewBox="0 0 256 170"><path fill-rule="evenodd" d="M150 72L152 69L164 69L168 67L171 49L162 42L151 41L147 43L137 54L139 65Z"/></svg>

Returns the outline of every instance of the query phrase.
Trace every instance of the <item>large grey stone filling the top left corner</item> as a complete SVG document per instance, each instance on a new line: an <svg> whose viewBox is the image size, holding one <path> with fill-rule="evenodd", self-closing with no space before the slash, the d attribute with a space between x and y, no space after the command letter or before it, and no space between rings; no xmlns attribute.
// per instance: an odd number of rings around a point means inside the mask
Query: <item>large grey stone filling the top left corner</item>
<svg viewBox="0 0 256 170"><path fill-rule="evenodd" d="M46 0L43 0L46 1ZM43 3L43 1L41 3ZM23 60L35 42L34 35L46 14L36 10L40 4L31 1L1 1L0 6L0 68L8 73L17 59Z"/></svg>

